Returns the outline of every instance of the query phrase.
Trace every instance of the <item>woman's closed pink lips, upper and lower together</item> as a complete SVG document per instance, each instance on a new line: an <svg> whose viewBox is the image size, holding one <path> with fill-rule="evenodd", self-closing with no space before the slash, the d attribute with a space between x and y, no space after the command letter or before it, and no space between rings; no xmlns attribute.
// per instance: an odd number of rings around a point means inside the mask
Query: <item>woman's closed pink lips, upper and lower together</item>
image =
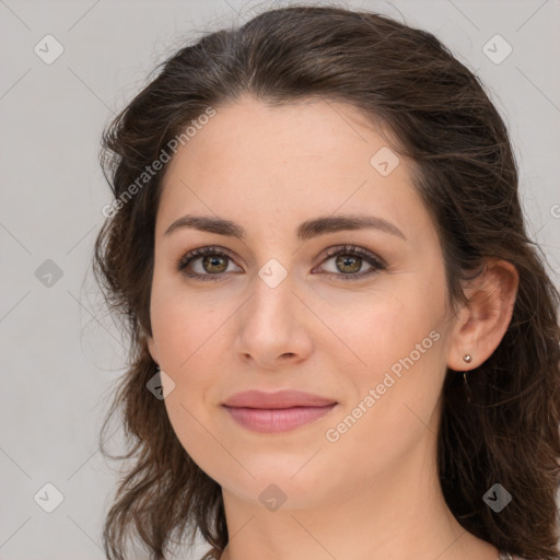
<svg viewBox="0 0 560 560"><path fill-rule="evenodd" d="M237 423L264 433L285 432L318 420L336 405L332 399L301 390L248 390L237 393L223 404Z"/></svg>

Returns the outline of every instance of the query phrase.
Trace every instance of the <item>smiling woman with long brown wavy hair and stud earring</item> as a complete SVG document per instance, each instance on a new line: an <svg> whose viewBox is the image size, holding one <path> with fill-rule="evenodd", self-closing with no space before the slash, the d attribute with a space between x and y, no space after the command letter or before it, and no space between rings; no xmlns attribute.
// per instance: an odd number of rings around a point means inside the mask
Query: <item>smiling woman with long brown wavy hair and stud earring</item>
<svg viewBox="0 0 560 560"><path fill-rule="evenodd" d="M270 10L104 140L94 265L131 335L108 558L196 530L222 560L559 558L560 298L506 127L433 35Z"/></svg>

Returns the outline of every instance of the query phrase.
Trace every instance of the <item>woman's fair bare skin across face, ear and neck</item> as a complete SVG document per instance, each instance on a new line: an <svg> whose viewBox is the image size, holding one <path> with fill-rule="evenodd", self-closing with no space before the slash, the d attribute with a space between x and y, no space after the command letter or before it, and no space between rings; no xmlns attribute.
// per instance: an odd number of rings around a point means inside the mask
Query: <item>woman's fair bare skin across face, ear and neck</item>
<svg viewBox="0 0 560 560"><path fill-rule="evenodd" d="M166 168L148 342L175 384L171 390L164 380L177 438L222 487L231 536L223 560L498 558L446 506L435 445L446 368L474 369L498 347L517 272L489 261L488 273L465 287L470 306L452 314L441 246L411 168L400 159L382 176L370 164L384 145L350 105L271 107L245 96L217 108ZM164 235L187 213L231 220L246 235L194 229ZM295 237L301 222L342 213L381 217L406 240L373 229ZM387 268L345 281L348 269L325 255L345 244ZM214 245L232 254L218 266L221 280L176 270L187 252ZM210 276L215 265L205 268L202 258L190 270ZM258 276L271 258L288 272L276 288ZM366 260L353 266L354 273L372 270ZM439 340L393 375L395 384L338 441L327 441L326 431L434 330ZM295 430L256 433L221 407L249 388L298 388L338 405ZM276 511L259 499L271 483L285 497Z"/></svg>

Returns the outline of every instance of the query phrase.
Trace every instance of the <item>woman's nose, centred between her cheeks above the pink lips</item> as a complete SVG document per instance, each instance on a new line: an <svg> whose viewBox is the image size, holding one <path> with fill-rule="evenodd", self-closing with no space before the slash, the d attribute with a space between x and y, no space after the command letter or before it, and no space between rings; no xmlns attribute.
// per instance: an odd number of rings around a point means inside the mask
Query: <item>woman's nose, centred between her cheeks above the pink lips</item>
<svg viewBox="0 0 560 560"><path fill-rule="evenodd" d="M237 316L235 349L242 360L277 370L310 355L311 314L300 298L290 275L275 288L256 278L253 295Z"/></svg>

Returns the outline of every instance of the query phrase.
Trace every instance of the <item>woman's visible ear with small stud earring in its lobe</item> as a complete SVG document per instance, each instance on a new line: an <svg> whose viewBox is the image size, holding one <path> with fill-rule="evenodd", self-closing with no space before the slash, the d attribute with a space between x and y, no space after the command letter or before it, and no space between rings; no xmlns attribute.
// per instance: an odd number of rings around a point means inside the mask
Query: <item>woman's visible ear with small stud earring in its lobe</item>
<svg viewBox="0 0 560 560"><path fill-rule="evenodd" d="M468 283L468 303L458 313L453 328L447 365L467 371L482 364L500 345L510 326L520 275L506 260L488 258L482 272ZM464 355L470 354L471 362Z"/></svg>

